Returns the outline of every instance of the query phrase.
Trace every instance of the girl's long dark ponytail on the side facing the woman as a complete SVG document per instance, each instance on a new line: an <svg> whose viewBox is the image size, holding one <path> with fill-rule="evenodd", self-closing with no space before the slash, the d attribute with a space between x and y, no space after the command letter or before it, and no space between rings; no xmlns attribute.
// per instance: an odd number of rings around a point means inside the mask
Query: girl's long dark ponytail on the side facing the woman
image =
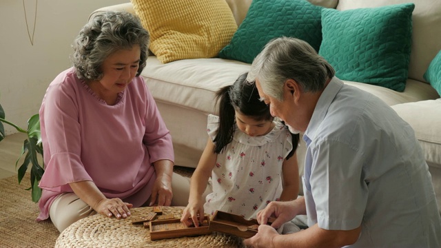
<svg viewBox="0 0 441 248"><path fill-rule="evenodd" d="M228 85L216 92L216 101L219 103L219 127L213 141L216 154L222 152L233 140L235 111L229 97L231 87L232 85Z"/></svg>

